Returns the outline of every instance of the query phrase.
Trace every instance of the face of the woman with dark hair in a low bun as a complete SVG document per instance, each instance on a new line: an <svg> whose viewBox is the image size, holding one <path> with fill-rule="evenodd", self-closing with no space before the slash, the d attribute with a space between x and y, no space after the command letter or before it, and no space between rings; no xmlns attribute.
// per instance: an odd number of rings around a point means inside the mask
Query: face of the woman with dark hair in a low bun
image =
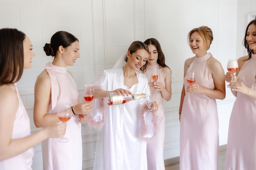
<svg viewBox="0 0 256 170"><path fill-rule="evenodd" d="M75 41L65 49L61 49L62 58L67 66L73 66L76 59L80 57L79 53L79 42Z"/></svg>

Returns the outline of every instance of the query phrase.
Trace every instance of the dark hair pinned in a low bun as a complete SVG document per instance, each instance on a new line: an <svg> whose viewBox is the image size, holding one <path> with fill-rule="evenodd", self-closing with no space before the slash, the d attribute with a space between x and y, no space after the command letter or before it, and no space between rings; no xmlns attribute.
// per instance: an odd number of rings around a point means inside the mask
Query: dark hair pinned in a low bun
<svg viewBox="0 0 256 170"><path fill-rule="evenodd" d="M52 35L51 44L45 44L44 51L47 56L51 55L54 57L56 55L56 52L58 51L59 46L67 48L75 41L78 41L78 39L71 33L68 33L66 31L58 31L54 35Z"/></svg>

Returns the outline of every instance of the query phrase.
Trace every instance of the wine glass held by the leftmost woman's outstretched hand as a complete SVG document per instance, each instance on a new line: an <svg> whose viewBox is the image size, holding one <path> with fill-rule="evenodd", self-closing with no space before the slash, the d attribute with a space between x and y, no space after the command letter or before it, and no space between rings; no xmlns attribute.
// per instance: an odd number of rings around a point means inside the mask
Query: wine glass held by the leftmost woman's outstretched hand
<svg viewBox="0 0 256 170"><path fill-rule="evenodd" d="M58 106L57 112L58 119L62 122L67 122L72 116L71 104L69 103L61 103ZM61 137L57 139L58 142L65 143L68 141L66 137Z"/></svg>

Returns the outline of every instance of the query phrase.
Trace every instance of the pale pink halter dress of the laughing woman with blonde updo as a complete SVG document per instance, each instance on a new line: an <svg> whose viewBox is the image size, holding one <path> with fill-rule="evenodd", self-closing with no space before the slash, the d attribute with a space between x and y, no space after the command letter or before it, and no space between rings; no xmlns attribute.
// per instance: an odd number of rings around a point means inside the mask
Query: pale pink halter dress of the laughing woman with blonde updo
<svg viewBox="0 0 256 170"><path fill-rule="evenodd" d="M207 59L211 56L208 53L195 57L186 73L195 72L195 84L214 89L207 66ZM187 86L185 76L185 89ZM180 120L180 170L218 170L218 147L216 99L202 93L192 93L191 98L184 97Z"/></svg>

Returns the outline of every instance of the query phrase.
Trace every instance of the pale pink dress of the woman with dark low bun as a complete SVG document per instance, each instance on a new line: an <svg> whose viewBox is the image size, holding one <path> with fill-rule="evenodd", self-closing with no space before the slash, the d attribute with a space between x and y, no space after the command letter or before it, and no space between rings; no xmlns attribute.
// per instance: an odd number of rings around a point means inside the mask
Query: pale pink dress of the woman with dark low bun
<svg viewBox="0 0 256 170"><path fill-rule="evenodd" d="M74 79L67 72L66 67L46 64L46 71L52 82L51 102L48 113L58 112L58 105L70 103L72 106L79 104L79 93ZM66 143L60 143L56 138L42 141L43 168L44 170L81 170L82 169L82 137L81 124L78 115L72 116L67 121L65 137Z"/></svg>

